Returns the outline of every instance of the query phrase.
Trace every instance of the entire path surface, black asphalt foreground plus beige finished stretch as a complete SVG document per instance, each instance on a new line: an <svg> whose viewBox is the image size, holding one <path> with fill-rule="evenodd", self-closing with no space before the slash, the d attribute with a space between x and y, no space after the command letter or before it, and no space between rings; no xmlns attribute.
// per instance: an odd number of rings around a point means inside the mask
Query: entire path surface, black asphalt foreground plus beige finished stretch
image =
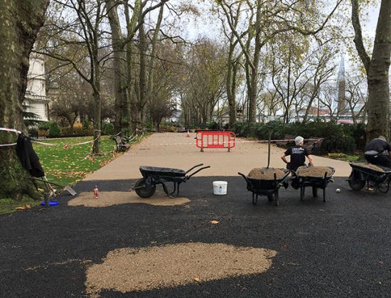
<svg viewBox="0 0 391 298"><path fill-rule="evenodd" d="M347 163L315 156L336 169L326 203L289 187L278 207L253 206L237 171L265 166L267 145L201 153L194 136L153 134L59 206L0 215L0 297L390 297L390 194L351 191ZM282 151L271 166L284 166ZM130 191L140 165L200 163L211 168L181 198ZM215 196L221 179L227 195Z"/></svg>

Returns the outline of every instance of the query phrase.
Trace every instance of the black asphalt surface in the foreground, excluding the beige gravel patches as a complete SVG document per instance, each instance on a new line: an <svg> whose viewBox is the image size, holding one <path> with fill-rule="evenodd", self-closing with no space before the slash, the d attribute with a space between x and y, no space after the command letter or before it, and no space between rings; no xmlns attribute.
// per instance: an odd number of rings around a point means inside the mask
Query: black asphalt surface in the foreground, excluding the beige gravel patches
<svg viewBox="0 0 391 298"><path fill-rule="evenodd" d="M277 251L259 275L102 297L390 297L391 193L350 191L346 179L326 188L326 203L280 191L252 205L240 176L224 177L227 195L213 195L215 177L181 184L182 206L59 206L0 215L0 297L86 297L85 270L116 248L173 243L225 243ZM99 181L100 191L128 191L135 180ZM83 181L77 192L91 191ZM158 188L161 186L158 186ZM341 193L336 193L341 188ZM217 225L210 220L219 220ZM156 277L159 278L159 277Z"/></svg>

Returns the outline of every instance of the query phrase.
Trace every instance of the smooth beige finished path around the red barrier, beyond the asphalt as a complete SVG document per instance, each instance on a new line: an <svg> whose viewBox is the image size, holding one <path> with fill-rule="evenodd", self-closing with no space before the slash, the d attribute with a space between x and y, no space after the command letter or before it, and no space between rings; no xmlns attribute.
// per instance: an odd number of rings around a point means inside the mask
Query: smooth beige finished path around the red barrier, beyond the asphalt
<svg viewBox="0 0 391 298"><path fill-rule="evenodd" d="M267 166L267 143L240 142L234 149L200 149L195 147L195 134L186 137L182 133L155 133L136 144L125 154L85 178L91 180L138 179L139 166L161 166L187 171L195 164L205 164L210 169L200 171L196 176L237 176L237 172L248 174L251 169ZM280 156L284 152L272 146L270 167L285 168ZM332 166L334 176L348 177L350 166L346 161L314 156L316 166Z"/></svg>

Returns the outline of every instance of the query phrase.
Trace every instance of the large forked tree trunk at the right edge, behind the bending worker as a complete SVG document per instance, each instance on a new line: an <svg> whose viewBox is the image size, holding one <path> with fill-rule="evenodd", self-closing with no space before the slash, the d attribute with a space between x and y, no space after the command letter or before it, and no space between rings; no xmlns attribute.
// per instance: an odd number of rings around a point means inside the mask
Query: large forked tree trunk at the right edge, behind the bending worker
<svg viewBox="0 0 391 298"><path fill-rule="evenodd" d="M372 58L365 51L363 44L358 17L358 0L351 0L351 2L355 48L363 61L368 78L367 140L370 141L375 137L379 137L379 135L384 135L387 140L390 140L390 86L388 83L391 57L390 0L382 0L380 6Z"/></svg>

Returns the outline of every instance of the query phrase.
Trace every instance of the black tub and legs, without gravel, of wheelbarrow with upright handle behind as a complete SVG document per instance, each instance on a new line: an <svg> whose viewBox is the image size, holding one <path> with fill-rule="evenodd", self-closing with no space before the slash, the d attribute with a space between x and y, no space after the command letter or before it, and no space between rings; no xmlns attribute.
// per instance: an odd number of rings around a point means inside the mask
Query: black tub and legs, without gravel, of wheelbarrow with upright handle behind
<svg viewBox="0 0 391 298"><path fill-rule="evenodd" d="M274 179L272 180L253 179L240 172L237 173L247 182L247 191L252 192L253 205L257 205L258 196L267 196L269 201L273 201L274 199L274 205L279 206L279 188L281 186L288 186L288 184L285 182L285 179L291 172L287 169L281 170L285 172L284 176L282 176L280 179L277 179L276 174L274 174Z"/></svg>

